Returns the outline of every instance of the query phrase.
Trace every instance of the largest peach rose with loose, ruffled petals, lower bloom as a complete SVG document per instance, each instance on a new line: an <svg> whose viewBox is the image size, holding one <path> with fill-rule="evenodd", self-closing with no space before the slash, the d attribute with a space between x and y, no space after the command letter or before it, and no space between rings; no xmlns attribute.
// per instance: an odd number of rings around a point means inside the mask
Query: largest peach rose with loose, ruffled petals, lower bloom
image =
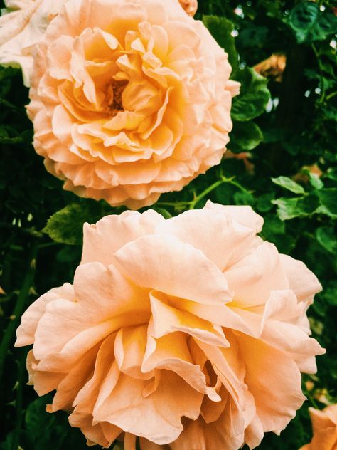
<svg viewBox="0 0 337 450"><path fill-rule="evenodd" d="M56 389L48 412L126 450L136 436L142 450L254 448L284 429L323 352L306 318L321 286L261 226L250 206L211 202L85 224L73 285L38 298L17 331L36 392Z"/></svg>

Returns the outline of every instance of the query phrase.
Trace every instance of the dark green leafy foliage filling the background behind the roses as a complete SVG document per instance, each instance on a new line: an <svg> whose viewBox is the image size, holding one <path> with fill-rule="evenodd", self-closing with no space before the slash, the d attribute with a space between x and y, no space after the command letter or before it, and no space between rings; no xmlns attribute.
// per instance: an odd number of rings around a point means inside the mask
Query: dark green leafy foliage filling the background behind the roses
<svg viewBox="0 0 337 450"><path fill-rule="evenodd" d="M233 99L228 149L248 153L225 157L219 167L182 192L164 194L154 206L169 217L202 207L206 199L250 204L264 216L262 238L304 261L323 285L309 318L314 338L327 353L317 358L316 375L304 375L309 400L281 436L265 436L261 450L299 449L311 438L307 408L337 400L333 6L336 2L199 0L197 18L230 53L232 78L242 83ZM272 53L287 56L282 83L252 69ZM63 191L62 182L46 172L31 146L27 103L21 73L0 68L0 450L18 450L18 445L23 450L84 450L85 439L69 426L67 414L45 412L50 398L37 399L26 386L26 351L14 349L14 331L37 295L73 280L82 224L122 209ZM314 383L310 392L308 380Z"/></svg>

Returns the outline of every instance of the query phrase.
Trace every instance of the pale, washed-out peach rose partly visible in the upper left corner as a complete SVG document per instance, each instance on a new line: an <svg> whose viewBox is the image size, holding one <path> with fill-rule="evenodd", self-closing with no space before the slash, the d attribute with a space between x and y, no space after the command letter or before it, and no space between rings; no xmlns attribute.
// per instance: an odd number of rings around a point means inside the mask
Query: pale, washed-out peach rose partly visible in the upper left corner
<svg viewBox="0 0 337 450"><path fill-rule="evenodd" d="M65 0L4 0L0 17L0 65L21 67L23 83L30 85L33 47Z"/></svg>

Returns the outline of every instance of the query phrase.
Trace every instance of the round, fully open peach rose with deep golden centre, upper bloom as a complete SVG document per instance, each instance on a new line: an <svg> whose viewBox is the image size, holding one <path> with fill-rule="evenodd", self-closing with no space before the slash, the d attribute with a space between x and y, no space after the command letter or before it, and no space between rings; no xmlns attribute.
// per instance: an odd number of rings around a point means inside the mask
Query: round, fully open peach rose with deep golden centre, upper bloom
<svg viewBox="0 0 337 450"><path fill-rule="evenodd" d="M80 196L153 204L219 164L230 70L178 0L70 0L35 54L36 152Z"/></svg>

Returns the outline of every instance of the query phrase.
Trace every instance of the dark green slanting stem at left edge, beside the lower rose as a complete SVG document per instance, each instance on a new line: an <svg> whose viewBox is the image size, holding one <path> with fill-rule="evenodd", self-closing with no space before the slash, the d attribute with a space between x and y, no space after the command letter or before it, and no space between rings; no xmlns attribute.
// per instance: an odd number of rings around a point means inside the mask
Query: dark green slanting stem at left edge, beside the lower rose
<svg viewBox="0 0 337 450"><path fill-rule="evenodd" d="M9 346L12 343L14 333L16 328L18 327L18 323L21 319L21 315L26 306L26 301L29 295L29 291L33 284L34 274L35 274L35 260L38 252L38 245L36 242L33 242L31 247L31 253L28 262L28 269L26 272L26 276L23 279L22 287L20 292L18 293L18 298L16 300L16 305L11 315L11 319L7 328L4 332L4 338L1 341L0 345L0 380L2 378L3 370L4 370L4 362L6 359L7 352L9 350Z"/></svg>

